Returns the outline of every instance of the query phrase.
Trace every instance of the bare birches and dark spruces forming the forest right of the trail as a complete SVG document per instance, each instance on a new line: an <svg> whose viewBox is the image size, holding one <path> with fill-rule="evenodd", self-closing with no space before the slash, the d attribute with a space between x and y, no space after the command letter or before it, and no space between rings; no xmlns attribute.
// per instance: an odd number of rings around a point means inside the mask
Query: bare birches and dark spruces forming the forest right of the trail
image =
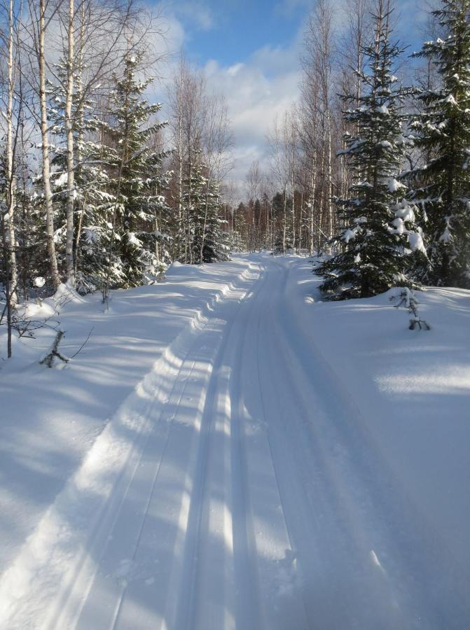
<svg viewBox="0 0 470 630"><path fill-rule="evenodd" d="M323 254L329 299L470 288L470 2L441 0L413 54L391 0L344 6L338 28L336 3L314 3L300 99L272 125L268 172L249 169L235 233Z"/></svg>

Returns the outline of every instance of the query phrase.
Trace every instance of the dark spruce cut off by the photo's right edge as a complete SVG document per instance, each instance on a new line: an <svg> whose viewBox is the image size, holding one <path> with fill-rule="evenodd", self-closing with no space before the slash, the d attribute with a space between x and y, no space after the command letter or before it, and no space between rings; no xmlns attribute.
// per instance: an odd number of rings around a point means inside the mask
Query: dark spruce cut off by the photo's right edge
<svg viewBox="0 0 470 630"><path fill-rule="evenodd" d="M410 199L424 209L430 265L422 281L470 287L470 1L442 0L433 12L444 39L418 57L434 63L440 87L421 90L412 123L425 163L407 174Z"/></svg>

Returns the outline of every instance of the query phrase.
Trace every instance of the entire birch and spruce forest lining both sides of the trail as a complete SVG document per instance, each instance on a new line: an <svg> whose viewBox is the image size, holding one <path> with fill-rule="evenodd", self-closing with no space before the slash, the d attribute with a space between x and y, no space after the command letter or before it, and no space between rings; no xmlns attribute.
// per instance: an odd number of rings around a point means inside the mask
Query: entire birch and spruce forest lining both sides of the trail
<svg viewBox="0 0 470 630"><path fill-rule="evenodd" d="M62 282L106 300L233 250L324 253L335 298L468 288L469 3L442 0L410 60L390 0L345 0L340 26L315 0L300 98L234 191L226 102L203 72L173 64L167 121L149 99L159 16L137 0L0 0L2 323Z"/></svg>

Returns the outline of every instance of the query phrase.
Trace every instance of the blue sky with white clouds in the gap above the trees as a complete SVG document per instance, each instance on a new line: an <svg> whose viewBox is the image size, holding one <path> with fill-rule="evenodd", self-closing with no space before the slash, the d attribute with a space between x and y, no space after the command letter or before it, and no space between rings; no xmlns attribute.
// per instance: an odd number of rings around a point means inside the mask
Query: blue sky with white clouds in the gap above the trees
<svg viewBox="0 0 470 630"><path fill-rule="evenodd" d="M152 2L154 0L147 0ZM397 0L396 37L408 52L422 41L426 0ZM205 69L210 89L223 92L235 135L233 179L263 162L275 117L298 98L299 55L312 0L163 0L170 48ZM343 0L333 0L338 27Z"/></svg>

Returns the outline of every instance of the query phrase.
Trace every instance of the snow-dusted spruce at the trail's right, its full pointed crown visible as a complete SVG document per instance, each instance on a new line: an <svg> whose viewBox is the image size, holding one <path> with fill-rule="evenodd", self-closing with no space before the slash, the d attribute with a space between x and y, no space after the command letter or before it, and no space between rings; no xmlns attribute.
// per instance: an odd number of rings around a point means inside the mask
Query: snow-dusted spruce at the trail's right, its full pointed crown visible
<svg viewBox="0 0 470 630"><path fill-rule="evenodd" d="M403 254L409 244L422 248L421 235L412 231L415 209L402 201L406 187L397 179L407 145L402 109L408 91L392 74L401 50L390 41L390 14L379 0L374 41L363 49L368 64L359 73L359 103L357 94L344 97L354 104L345 121L357 130L346 135L343 152L353 183L348 197L337 200L342 227L331 244L340 251L314 271L325 276L321 288L329 299L371 297L396 284L412 286Z"/></svg>

